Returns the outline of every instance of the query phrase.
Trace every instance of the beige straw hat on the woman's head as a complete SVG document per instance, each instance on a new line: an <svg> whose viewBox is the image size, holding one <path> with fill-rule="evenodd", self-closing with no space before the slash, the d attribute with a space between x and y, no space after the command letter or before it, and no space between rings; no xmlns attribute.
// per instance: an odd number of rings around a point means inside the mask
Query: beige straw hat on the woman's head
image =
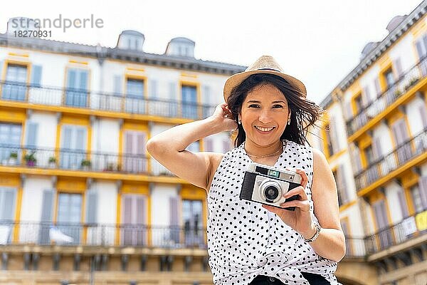
<svg viewBox="0 0 427 285"><path fill-rule="evenodd" d="M283 68L279 66L273 56L261 56L255 61L255 63L246 68L246 71L236 73L227 79L226 84L224 85L224 99L226 102L233 88L238 86L249 76L257 73L268 73L274 74L275 76L280 76L281 78L285 79L285 81L288 81L288 83L290 83L290 85L294 87L295 90L300 93L300 95L307 97L307 89L305 89L304 84L297 80L297 78L283 73Z"/></svg>

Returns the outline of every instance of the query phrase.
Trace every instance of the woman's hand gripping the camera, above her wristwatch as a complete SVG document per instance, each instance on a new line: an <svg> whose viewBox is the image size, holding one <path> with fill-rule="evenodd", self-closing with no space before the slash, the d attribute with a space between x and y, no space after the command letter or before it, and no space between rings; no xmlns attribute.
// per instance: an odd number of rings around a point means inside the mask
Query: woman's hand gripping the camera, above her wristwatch
<svg viewBox="0 0 427 285"><path fill-rule="evenodd" d="M284 208L295 207L295 211L280 209L278 207L268 206L265 204L263 204L263 207L268 209L270 212L277 214L285 224L288 224L289 227L292 227L292 229L294 229L296 232L302 234L303 237L310 238L307 237L307 235L312 234L313 226L312 217L310 214L310 202L308 201L307 194L305 193L308 177L304 170L297 170L296 172L301 175L301 186L295 187L294 189L288 191L285 193L285 195L283 195L283 197L288 199L294 195L300 195L300 199L295 199L280 204L280 207Z"/></svg>

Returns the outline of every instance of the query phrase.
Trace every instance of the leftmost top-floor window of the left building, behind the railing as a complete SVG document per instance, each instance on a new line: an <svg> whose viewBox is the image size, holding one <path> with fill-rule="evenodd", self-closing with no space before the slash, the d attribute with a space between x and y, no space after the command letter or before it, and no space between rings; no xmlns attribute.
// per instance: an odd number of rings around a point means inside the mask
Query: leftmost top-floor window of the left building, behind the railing
<svg viewBox="0 0 427 285"><path fill-rule="evenodd" d="M2 88L1 98L23 101L26 97L27 67L8 64L6 83Z"/></svg>

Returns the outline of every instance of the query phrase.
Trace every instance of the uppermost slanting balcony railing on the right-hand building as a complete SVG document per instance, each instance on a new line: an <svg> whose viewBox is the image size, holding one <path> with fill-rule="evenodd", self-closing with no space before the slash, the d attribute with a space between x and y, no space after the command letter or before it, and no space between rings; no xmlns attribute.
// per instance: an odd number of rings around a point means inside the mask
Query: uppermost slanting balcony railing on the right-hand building
<svg viewBox="0 0 427 285"><path fill-rule="evenodd" d="M421 59L415 66L408 69L406 73L389 86L384 93L381 93L378 98L373 100L370 105L362 108L354 118L347 122L347 130L349 135L353 135L357 130L362 128L372 118L386 110L386 108L394 103L398 98L404 95L418 81L427 76L427 57Z"/></svg>

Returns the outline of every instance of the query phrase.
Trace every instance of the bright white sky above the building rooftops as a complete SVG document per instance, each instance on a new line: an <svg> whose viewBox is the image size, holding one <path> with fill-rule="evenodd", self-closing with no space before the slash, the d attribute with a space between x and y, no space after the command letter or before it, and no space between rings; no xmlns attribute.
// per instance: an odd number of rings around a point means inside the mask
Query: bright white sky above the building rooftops
<svg viewBox="0 0 427 285"><path fill-rule="evenodd" d="M383 40L389 21L410 14L418 4L420 0L21 0L19 7L12 1L1 4L0 33L16 16L51 21L93 16L102 20L102 27L45 28L51 31L48 39L115 47L121 31L132 29L144 34L148 53L162 54L172 38L184 36L196 42L195 57L206 61L249 66L268 54L285 73L305 83L307 98L320 103L357 66L364 46Z"/></svg>

